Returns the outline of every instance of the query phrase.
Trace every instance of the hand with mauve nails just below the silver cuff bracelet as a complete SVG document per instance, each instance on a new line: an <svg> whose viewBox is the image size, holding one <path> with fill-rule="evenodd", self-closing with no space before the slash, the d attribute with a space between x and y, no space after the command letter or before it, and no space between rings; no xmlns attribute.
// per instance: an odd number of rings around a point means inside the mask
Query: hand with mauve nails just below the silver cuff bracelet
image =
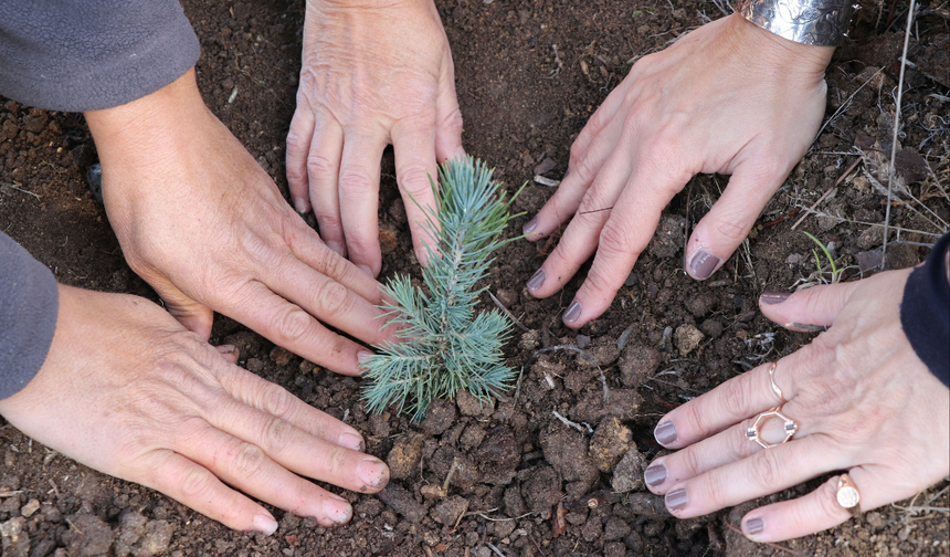
<svg viewBox="0 0 950 557"><path fill-rule="evenodd" d="M557 193L525 225L537 240L574 216L529 292L550 296L597 251L563 320L579 328L600 316L663 208L697 172L732 175L686 246L686 271L712 274L814 138L833 50L733 14L636 62L578 136Z"/></svg>

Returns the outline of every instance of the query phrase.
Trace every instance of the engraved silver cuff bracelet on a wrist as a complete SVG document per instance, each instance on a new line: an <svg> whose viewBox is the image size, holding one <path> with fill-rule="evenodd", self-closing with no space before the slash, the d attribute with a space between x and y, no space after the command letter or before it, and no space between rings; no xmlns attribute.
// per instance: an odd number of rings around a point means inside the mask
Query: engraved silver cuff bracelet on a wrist
<svg viewBox="0 0 950 557"><path fill-rule="evenodd" d="M848 0L739 0L736 11L783 39L837 46L847 36L854 6Z"/></svg>

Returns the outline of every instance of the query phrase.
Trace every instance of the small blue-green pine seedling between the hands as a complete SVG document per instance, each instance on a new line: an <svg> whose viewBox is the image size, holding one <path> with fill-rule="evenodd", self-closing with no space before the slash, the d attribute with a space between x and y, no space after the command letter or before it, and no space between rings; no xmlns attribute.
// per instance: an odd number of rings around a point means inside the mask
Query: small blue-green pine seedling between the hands
<svg viewBox="0 0 950 557"><path fill-rule="evenodd" d="M387 311L383 318L401 328L399 343L377 346L377 354L362 364L370 412L395 404L420 420L434 399L466 389L487 401L514 379L502 354L510 322L497 309L475 313L487 288L477 283L488 274L492 253L510 241L499 237L517 217L508 212L517 193L506 201L492 172L464 156L439 168L440 188L430 178L437 211L425 210L423 228L435 243L426 246L425 288L413 286L409 276L395 276L384 286L394 303L380 306Z"/></svg>

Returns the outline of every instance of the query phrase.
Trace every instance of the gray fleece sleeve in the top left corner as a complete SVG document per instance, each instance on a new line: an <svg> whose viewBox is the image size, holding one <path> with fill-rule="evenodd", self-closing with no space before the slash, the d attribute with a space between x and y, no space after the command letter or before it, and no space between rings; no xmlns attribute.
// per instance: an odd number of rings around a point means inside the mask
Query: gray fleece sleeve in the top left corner
<svg viewBox="0 0 950 557"><path fill-rule="evenodd" d="M38 108L126 104L199 53L178 0L0 0L0 95Z"/></svg>

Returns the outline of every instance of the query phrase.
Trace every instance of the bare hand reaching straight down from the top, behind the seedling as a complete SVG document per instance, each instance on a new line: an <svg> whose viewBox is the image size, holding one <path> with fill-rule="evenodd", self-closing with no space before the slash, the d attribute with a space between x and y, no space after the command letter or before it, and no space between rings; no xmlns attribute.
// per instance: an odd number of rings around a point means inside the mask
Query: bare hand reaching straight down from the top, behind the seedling
<svg viewBox="0 0 950 557"><path fill-rule="evenodd" d="M395 178L415 256L435 248L422 224L435 209L430 178L462 150L452 53L432 0L308 0L287 181L297 211L314 208L330 249L372 276L379 248L380 157Z"/></svg>

